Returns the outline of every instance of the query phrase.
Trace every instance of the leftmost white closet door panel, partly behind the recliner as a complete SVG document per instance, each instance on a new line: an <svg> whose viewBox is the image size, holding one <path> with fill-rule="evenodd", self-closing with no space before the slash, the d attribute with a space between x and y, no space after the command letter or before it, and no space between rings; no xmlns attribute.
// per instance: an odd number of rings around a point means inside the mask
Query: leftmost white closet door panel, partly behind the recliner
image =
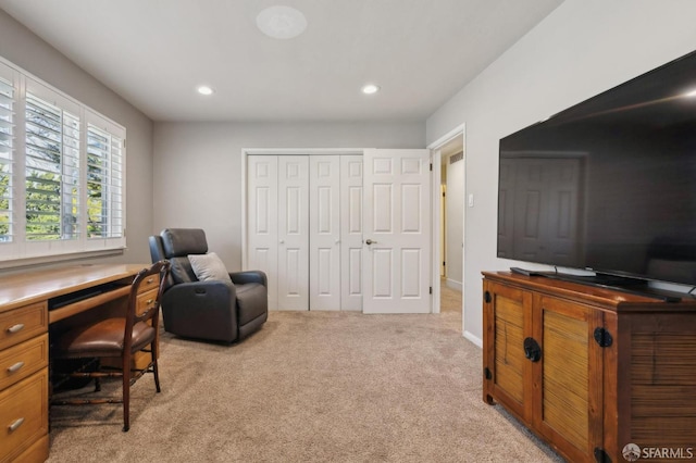
<svg viewBox="0 0 696 463"><path fill-rule="evenodd" d="M277 309L278 159L251 155L247 162L247 258L249 268L265 272L269 308Z"/></svg>

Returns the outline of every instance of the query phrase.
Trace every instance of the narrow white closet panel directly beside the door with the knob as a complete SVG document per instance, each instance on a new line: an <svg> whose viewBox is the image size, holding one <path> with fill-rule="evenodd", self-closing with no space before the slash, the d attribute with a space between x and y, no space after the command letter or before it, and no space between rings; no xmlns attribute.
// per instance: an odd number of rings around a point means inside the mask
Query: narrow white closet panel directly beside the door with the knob
<svg viewBox="0 0 696 463"><path fill-rule="evenodd" d="M362 157L340 157L340 310L362 310Z"/></svg>

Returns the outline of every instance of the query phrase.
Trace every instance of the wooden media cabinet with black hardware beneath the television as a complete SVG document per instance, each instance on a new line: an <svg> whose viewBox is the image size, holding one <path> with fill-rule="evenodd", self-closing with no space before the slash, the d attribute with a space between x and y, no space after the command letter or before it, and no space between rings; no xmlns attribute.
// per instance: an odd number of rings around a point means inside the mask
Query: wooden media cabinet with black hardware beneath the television
<svg viewBox="0 0 696 463"><path fill-rule="evenodd" d="M695 299L483 275L486 403L572 462L696 458Z"/></svg>

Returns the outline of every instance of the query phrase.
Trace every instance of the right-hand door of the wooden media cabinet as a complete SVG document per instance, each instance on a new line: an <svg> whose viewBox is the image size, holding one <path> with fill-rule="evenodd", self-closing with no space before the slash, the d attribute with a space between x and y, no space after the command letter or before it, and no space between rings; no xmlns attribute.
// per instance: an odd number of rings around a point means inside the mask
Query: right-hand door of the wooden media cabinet
<svg viewBox="0 0 696 463"><path fill-rule="evenodd" d="M602 348L594 330L602 312L589 305L536 295L533 363L533 426L571 461L589 461L602 448Z"/></svg>

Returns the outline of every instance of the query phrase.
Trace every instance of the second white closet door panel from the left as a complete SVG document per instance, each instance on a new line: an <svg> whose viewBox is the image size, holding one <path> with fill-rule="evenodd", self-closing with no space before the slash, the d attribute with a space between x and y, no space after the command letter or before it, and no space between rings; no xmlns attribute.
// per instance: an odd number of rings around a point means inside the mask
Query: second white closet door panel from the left
<svg viewBox="0 0 696 463"><path fill-rule="evenodd" d="M278 309L309 308L309 160L278 157Z"/></svg>

